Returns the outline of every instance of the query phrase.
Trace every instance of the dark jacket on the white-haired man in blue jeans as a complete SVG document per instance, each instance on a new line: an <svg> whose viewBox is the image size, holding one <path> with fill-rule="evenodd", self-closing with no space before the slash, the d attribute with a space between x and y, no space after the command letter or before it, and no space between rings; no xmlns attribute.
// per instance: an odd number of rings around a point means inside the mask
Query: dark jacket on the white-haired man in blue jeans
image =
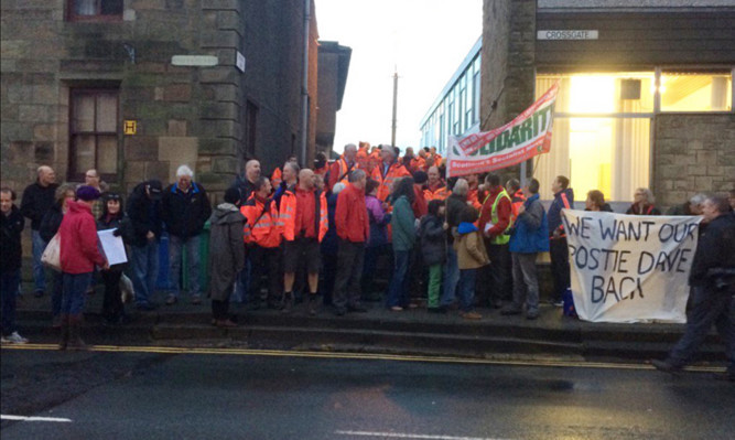
<svg viewBox="0 0 735 440"><path fill-rule="evenodd" d="M169 234L187 238L202 233L212 216L212 205L201 184L192 182L192 187L184 193L175 183L163 191L161 212Z"/></svg>

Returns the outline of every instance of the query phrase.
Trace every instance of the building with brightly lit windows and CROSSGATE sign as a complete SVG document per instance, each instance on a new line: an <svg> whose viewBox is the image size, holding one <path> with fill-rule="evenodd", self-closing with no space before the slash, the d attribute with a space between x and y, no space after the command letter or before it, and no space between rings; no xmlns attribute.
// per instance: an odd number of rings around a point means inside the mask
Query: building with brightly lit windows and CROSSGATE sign
<svg viewBox="0 0 735 440"><path fill-rule="evenodd" d="M485 0L479 129L560 82L552 150L528 167L544 198L558 174L577 200L732 190L733 29L731 0Z"/></svg>

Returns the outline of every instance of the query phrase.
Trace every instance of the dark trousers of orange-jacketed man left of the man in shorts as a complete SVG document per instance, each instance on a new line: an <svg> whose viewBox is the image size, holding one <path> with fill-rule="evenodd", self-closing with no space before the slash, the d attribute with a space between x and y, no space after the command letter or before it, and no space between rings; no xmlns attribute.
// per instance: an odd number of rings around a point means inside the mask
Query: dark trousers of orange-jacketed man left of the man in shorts
<svg viewBox="0 0 735 440"><path fill-rule="evenodd" d="M281 300L283 294L283 273L281 271L281 248L252 246L248 248L250 260L250 282L248 301L268 300L271 303ZM262 293L263 276L268 276L268 293Z"/></svg>

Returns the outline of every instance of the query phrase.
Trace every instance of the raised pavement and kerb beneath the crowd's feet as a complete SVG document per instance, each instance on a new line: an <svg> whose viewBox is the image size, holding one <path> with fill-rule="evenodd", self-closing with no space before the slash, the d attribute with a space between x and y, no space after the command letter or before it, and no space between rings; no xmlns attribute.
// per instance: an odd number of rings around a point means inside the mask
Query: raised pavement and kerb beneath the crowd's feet
<svg viewBox="0 0 735 440"><path fill-rule="evenodd" d="M34 298L29 289L18 302L18 328L31 342L53 343L58 331L51 326L51 299ZM306 304L290 314L275 310L246 310L233 303L238 318L234 329L212 325L208 300L140 312L127 310L132 322L107 326L99 314L101 287L88 296L84 336L87 343L107 345L165 345L190 347L274 348L349 353L382 353L429 356L460 356L490 359L561 358L566 361L645 362L664 357L681 336L683 324L591 323L563 316L562 310L542 305L538 320L522 315L502 316L497 309L478 308L478 321L467 321L456 311L429 313L425 308L392 312L380 302L366 302L366 313L336 316L322 307L309 316ZM154 300L163 303L165 292ZM701 350L700 365L725 364L724 346L714 329Z"/></svg>

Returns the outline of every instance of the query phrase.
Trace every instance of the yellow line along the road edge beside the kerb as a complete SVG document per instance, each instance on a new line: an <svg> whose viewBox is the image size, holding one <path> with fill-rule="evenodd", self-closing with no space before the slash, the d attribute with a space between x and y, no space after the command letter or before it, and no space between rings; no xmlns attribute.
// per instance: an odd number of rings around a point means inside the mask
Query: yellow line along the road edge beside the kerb
<svg viewBox="0 0 735 440"><path fill-rule="evenodd" d="M13 344L3 345L2 350L43 350L58 351L56 344ZM273 356L273 357L311 357L329 359L354 359L354 361L397 361L397 362L424 362L442 364L477 364L477 365L507 365L507 366L531 366L531 367L574 367L597 369L655 369L650 364L616 364L605 362L581 362L560 359L483 359L473 357L448 357L448 356L419 356L419 355L394 355L379 353L348 353L348 352L307 352L307 351L283 351L283 350L250 350L250 348L198 348L198 347L165 347L165 346L123 346L123 345L88 345L89 352L108 353L155 353L155 354L199 354L199 355L236 355L236 356ZM715 366L690 366L684 368L695 373L723 373L725 367Z"/></svg>

